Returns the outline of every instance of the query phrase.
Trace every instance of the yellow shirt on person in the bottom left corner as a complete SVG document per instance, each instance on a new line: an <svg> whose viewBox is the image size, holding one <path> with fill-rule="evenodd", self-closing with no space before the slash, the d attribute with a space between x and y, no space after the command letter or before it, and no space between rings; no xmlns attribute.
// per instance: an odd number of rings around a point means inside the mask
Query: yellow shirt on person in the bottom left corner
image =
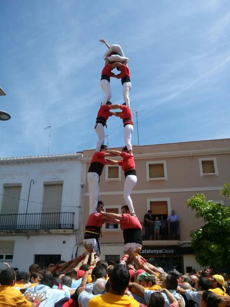
<svg viewBox="0 0 230 307"><path fill-rule="evenodd" d="M0 307L31 307L29 302L19 290L11 286L0 286Z"/></svg>

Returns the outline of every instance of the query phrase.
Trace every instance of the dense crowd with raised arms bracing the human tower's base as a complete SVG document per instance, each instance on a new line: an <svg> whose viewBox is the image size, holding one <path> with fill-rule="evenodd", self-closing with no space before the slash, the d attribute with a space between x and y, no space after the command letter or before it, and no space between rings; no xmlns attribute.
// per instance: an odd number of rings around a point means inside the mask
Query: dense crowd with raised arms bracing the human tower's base
<svg viewBox="0 0 230 307"><path fill-rule="evenodd" d="M85 252L68 262L33 264L29 272L0 272L0 307L224 307L230 305L228 274L208 268L164 272L134 253L120 264ZM7 264L6 264L7 265Z"/></svg>

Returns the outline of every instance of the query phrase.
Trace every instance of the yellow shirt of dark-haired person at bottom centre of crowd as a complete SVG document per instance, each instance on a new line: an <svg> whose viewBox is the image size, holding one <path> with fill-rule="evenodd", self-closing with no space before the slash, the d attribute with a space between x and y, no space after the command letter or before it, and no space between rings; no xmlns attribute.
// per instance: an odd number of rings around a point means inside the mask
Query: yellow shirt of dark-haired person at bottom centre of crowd
<svg viewBox="0 0 230 307"><path fill-rule="evenodd" d="M106 293L91 298L88 307L139 307L139 303L127 295Z"/></svg>

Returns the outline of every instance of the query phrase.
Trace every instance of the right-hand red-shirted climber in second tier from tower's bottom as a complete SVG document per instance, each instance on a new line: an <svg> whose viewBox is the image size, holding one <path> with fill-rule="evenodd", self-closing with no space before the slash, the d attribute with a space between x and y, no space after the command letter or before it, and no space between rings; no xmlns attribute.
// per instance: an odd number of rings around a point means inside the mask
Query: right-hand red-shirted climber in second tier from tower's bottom
<svg viewBox="0 0 230 307"><path fill-rule="evenodd" d="M130 194L137 182L133 154L130 155L130 153L128 153L128 149L126 146L122 148L122 151L108 150L108 152L110 152L114 156L120 156L123 158L123 160L120 161L111 160L111 159L105 159L105 160L107 161L107 164L122 166L122 169L124 170L125 174L124 200L129 208L131 215L134 215L135 211L133 208L132 199L130 197Z"/></svg>

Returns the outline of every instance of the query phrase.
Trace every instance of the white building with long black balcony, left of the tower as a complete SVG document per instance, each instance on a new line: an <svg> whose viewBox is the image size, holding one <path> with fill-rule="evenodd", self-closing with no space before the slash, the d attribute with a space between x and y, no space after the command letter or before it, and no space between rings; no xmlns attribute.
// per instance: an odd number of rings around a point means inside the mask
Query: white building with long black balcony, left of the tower
<svg viewBox="0 0 230 307"><path fill-rule="evenodd" d="M0 268L9 262L28 271L33 263L75 257L82 233L81 157L0 159Z"/></svg>

